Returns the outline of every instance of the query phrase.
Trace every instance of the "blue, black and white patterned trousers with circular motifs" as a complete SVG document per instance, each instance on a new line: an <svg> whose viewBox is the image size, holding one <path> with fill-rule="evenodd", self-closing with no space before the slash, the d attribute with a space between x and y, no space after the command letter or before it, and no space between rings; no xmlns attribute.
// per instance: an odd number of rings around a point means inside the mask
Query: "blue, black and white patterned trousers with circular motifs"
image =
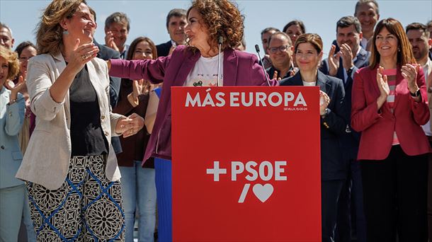
<svg viewBox="0 0 432 242"><path fill-rule="evenodd" d="M74 156L62 186L26 183L38 241L124 241L120 182L105 175L105 156Z"/></svg>

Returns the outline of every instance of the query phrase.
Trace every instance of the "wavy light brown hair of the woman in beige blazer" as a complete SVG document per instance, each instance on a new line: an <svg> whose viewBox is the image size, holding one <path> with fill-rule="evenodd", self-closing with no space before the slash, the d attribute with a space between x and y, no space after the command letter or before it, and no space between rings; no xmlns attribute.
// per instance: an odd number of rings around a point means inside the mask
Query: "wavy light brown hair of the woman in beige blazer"
<svg viewBox="0 0 432 242"><path fill-rule="evenodd" d="M36 31L39 54L58 54L63 49L63 31L60 22L72 18L80 4L85 0L53 0L40 17Z"/></svg>

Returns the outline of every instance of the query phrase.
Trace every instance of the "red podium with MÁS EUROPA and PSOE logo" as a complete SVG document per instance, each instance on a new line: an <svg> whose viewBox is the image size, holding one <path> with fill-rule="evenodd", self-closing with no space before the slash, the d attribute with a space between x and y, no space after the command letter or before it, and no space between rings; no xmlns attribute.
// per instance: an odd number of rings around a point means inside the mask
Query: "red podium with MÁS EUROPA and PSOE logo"
<svg viewBox="0 0 432 242"><path fill-rule="evenodd" d="M319 87L173 87L174 241L321 241Z"/></svg>

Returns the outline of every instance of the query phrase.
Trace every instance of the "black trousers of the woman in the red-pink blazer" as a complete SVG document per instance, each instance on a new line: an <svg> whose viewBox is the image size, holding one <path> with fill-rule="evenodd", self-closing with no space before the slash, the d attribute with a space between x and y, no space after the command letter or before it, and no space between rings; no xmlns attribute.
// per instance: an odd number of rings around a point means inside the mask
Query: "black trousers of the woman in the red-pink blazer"
<svg viewBox="0 0 432 242"><path fill-rule="evenodd" d="M427 241L427 162L399 145L385 160L361 161L368 242Z"/></svg>

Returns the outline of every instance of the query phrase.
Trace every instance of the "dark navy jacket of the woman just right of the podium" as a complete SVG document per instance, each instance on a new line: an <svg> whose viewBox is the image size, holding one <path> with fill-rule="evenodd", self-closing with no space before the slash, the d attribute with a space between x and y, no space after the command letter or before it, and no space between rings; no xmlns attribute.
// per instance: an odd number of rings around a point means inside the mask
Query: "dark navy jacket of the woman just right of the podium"
<svg viewBox="0 0 432 242"><path fill-rule="evenodd" d="M303 86L301 71L280 81L280 86ZM321 120L321 179L338 180L346 178L346 166L342 160L340 139L346 128L345 91L341 79L317 73L317 86L327 93L330 113ZM306 127L307 128L307 127Z"/></svg>

